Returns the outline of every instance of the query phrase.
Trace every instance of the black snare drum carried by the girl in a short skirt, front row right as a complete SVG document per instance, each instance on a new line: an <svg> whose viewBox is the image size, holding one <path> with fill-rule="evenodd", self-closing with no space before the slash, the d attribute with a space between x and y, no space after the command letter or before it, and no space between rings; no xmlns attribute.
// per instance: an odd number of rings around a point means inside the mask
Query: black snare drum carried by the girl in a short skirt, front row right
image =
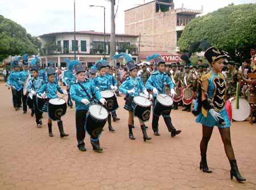
<svg viewBox="0 0 256 190"><path fill-rule="evenodd" d="M134 115L143 122L150 119L151 102L147 98L136 96L133 98L131 106L133 107Z"/></svg>

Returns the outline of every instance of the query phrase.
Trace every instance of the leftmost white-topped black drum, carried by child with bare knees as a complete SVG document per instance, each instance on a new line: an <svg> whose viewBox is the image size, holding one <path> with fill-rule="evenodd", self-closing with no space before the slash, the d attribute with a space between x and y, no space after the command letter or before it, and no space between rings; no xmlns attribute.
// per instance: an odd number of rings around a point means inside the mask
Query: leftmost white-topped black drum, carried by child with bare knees
<svg viewBox="0 0 256 190"><path fill-rule="evenodd" d="M67 111L67 103L63 98L52 98L48 102L48 115L52 121L60 120Z"/></svg>

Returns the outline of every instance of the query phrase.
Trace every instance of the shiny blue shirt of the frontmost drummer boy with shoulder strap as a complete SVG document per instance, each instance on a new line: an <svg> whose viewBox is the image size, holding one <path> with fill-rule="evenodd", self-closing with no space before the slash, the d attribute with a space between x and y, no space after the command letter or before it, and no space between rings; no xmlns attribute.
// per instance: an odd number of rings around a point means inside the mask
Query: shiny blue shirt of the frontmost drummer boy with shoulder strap
<svg viewBox="0 0 256 190"><path fill-rule="evenodd" d="M84 103L81 102L81 100L86 98L87 100L90 101L90 103L92 103L92 100L90 99L93 96L96 96L96 99L98 101L100 101L102 96L101 96L100 90L98 90L96 86L94 86L91 82L84 81L84 82L80 82L80 84L84 86L89 96L86 92L84 92L84 90L78 83L75 83L71 86L71 90L70 90L71 98L73 101L76 102L76 110L88 110L89 105L85 105Z"/></svg>

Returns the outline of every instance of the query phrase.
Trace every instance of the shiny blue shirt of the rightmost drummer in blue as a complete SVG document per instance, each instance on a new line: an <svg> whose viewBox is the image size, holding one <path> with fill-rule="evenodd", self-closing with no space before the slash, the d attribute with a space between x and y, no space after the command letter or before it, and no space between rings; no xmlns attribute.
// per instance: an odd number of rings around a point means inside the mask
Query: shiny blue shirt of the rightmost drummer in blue
<svg viewBox="0 0 256 190"><path fill-rule="evenodd" d="M156 71L147 80L146 88L151 91L156 88L158 93L166 94L166 84L168 84L171 89L174 89L174 82L172 82L167 73ZM153 93L153 97L155 96L156 94Z"/></svg>

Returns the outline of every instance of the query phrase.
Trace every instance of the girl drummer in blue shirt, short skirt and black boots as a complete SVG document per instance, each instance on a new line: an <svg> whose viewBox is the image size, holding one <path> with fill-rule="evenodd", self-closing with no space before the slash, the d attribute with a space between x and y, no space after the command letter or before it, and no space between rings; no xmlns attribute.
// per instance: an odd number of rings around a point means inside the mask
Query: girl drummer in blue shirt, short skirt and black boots
<svg viewBox="0 0 256 190"><path fill-rule="evenodd" d="M129 57L124 56L127 59L127 67L130 71L130 77L127 77L127 79L122 83L121 86L119 86L119 90L126 94L125 97L125 109L129 111L129 118L128 118L128 127L129 127L129 138L131 140L135 140L135 137L133 135L133 120L134 120L134 113L133 113L133 107L131 106L131 103L133 102L133 98L135 96L139 96L140 92L143 92L147 97L149 96L147 89L145 88L141 77L137 77L138 73L138 67L134 63L134 60L129 59ZM148 137L146 126L141 119L139 119L139 124L141 125L142 133L143 133L143 140L148 141L151 140L151 137Z"/></svg>

